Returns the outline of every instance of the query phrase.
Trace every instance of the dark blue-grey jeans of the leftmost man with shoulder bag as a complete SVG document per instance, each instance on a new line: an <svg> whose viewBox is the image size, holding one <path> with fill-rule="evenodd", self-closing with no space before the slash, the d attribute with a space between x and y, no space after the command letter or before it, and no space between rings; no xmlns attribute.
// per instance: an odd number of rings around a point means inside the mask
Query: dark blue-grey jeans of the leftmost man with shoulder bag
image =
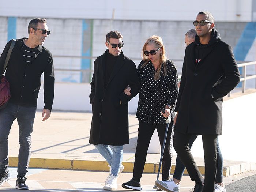
<svg viewBox="0 0 256 192"><path fill-rule="evenodd" d="M25 176L29 167L31 154L31 133L36 107L20 106L8 103L0 110L0 173L8 171L8 136L15 119L19 124L19 161L18 176Z"/></svg>

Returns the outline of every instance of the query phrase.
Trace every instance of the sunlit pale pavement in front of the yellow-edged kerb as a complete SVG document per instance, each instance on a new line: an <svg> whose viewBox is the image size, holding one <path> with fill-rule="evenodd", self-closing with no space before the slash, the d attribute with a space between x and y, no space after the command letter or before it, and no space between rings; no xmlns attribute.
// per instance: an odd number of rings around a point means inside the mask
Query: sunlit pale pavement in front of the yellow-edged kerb
<svg viewBox="0 0 256 192"><path fill-rule="evenodd" d="M17 192L15 189L16 181L16 171L14 167L10 167L11 179L0 187L0 191L4 192ZM240 180L248 176L255 175L256 171L246 172L239 174L237 176L230 176L224 178L225 185L229 186L230 183ZM27 174L26 183L29 185L29 191L40 192L103 192L103 186L108 172L98 172L98 171L81 171L81 170L54 170L54 169L34 169L29 168ZM149 192L155 191L152 187L154 186L154 181L157 177L155 173L144 173L142 176L142 191ZM121 187L123 182L127 182L132 178L132 173L122 172L118 177L118 189L116 191L133 191L129 189L124 189ZM182 178L180 192L188 192L195 185L189 178L189 176L184 176ZM105 191L106 192L106 191ZM234 191L227 191L234 192ZM242 192L242 191L236 191ZM249 191L246 191L249 192ZM253 191L252 191L253 192Z"/></svg>

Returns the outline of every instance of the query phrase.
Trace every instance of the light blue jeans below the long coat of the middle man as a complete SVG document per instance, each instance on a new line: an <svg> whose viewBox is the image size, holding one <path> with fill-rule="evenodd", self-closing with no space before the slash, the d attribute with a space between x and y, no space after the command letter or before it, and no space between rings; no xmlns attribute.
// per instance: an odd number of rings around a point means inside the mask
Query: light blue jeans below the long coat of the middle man
<svg viewBox="0 0 256 192"><path fill-rule="evenodd" d="M99 151L99 154L101 154L109 163L109 166L111 166L111 174L118 176L118 172L123 161L123 145L113 145L113 151L109 145L99 144L94 146Z"/></svg>

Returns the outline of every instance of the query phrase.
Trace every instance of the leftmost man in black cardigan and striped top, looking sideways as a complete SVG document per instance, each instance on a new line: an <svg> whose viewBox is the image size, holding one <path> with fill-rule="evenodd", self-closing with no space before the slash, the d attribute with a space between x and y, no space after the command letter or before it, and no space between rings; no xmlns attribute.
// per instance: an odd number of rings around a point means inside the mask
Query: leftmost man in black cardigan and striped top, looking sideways
<svg viewBox="0 0 256 192"><path fill-rule="evenodd" d="M50 34L46 19L34 18L29 22L29 38L16 39L5 73L10 83L11 98L0 110L0 186L11 178L8 171L8 135L15 119L19 124L19 161L16 189L28 190L26 173L31 154L31 133L37 98L44 73L44 109L42 121L50 117L54 96L54 69L52 53L44 46ZM0 71L13 40L9 41L0 57Z"/></svg>

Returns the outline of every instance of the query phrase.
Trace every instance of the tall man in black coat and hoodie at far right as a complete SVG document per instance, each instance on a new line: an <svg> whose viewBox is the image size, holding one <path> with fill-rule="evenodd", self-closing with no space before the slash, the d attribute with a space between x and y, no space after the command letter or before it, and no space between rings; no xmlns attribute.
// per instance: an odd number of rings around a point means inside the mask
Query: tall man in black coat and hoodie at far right
<svg viewBox="0 0 256 192"><path fill-rule="evenodd" d="M215 188L217 136L222 135L222 101L240 82L240 73L230 45L214 29L214 17L202 11L193 22L195 43L187 46L177 98L173 146L187 168L193 192L225 192ZM202 135L205 177L203 179L189 149L193 135ZM169 190L171 181L158 187Z"/></svg>

